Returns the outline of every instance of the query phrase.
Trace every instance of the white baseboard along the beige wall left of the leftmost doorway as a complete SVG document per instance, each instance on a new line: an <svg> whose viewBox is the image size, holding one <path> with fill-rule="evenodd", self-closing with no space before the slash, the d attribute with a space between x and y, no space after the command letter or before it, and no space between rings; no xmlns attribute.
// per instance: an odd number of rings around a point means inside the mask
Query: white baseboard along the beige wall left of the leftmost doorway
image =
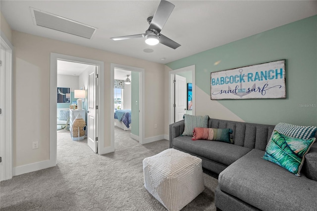
<svg viewBox="0 0 317 211"><path fill-rule="evenodd" d="M38 171L45 168L50 168L55 166L56 163L50 161L50 160L44 160L40 162L34 162L26 165L21 165L17 167L12 168L12 176L17 176L25 173L30 173L32 171Z"/></svg>

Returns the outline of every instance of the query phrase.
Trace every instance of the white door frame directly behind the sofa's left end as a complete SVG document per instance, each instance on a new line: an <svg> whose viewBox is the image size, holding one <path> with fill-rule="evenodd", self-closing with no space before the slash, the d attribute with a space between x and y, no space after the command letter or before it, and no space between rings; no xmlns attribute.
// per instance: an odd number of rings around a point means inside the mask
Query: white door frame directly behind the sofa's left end
<svg viewBox="0 0 317 211"><path fill-rule="evenodd" d="M193 110L192 114L195 115L195 109L196 109L196 94L195 94L195 65L179 68L176 70L171 70L168 72L168 78L169 78L169 101L168 101L168 124L174 123L174 97L175 97L175 90L174 90L174 75L176 73L181 73L181 72L192 72L192 84L193 84Z"/></svg>

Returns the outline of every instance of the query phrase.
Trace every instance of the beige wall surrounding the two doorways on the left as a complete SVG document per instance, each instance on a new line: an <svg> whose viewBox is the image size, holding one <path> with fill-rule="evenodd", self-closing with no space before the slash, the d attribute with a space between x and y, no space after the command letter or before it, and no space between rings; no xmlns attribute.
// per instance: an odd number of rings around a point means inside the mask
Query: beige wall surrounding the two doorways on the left
<svg viewBox="0 0 317 211"><path fill-rule="evenodd" d="M2 19L2 16L1 16ZM1 21L2 23L2 21ZM1 28L2 29L2 28ZM110 146L110 63L145 69L145 138L164 134L165 65L70 43L12 31L13 57L13 166L49 159L50 53L60 53L105 64L104 147ZM155 79L155 80L153 80ZM147 115L151 114L151 115ZM154 129L154 124L158 128ZM39 149L32 150L32 142Z"/></svg>

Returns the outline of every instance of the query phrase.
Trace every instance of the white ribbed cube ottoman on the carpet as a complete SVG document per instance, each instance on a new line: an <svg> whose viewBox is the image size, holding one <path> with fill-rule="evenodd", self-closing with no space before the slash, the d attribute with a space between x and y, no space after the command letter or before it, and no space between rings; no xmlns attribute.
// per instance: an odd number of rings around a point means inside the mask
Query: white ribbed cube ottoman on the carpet
<svg viewBox="0 0 317 211"><path fill-rule="evenodd" d="M145 188L169 211L179 211L204 190L202 159L167 149L143 160Z"/></svg>

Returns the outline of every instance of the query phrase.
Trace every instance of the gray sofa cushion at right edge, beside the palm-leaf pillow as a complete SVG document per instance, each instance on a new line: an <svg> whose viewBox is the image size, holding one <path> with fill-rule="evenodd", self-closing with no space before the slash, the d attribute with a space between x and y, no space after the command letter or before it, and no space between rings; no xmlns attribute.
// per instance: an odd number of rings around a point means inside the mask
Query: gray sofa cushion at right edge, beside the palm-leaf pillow
<svg viewBox="0 0 317 211"><path fill-rule="evenodd" d="M307 178L317 181L317 142L306 154L302 172Z"/></svg>

